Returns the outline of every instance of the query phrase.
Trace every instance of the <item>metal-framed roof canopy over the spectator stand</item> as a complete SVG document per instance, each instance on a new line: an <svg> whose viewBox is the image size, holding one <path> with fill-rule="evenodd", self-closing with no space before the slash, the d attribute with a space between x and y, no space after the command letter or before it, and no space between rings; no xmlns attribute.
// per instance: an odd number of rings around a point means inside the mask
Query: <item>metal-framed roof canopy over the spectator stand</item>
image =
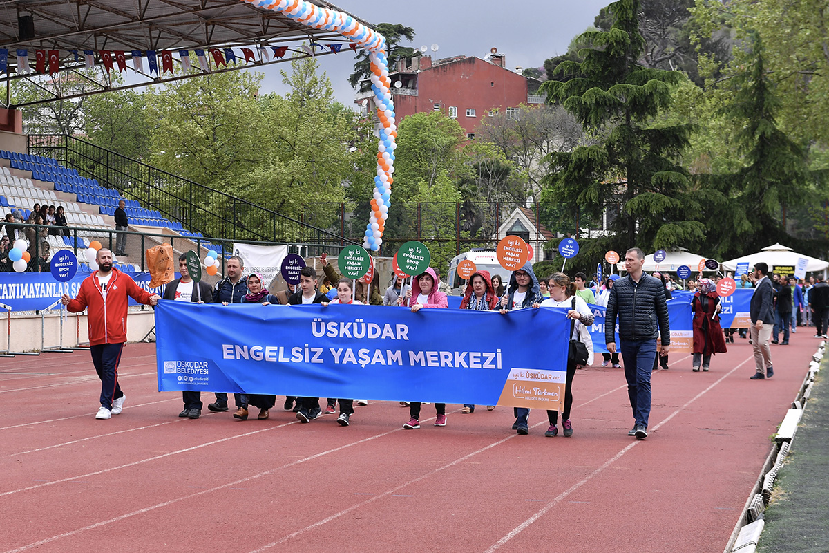
<svg viewBox="0 0 829 553"><path fill-rule="evenodd" d="M309 0L319 7L343 12L331 2ZM18 17L31 15L34 21L35 36L20 39ZM370 23L349 14L357 21L371 26ZM294 22L279 12L273 12L240 0L11 0L0 2L0 48L9 50L9 71L0 75L0 82L6 82L6 104L9 103L9 84L12 80L32 80L35 75L12 73L12 61L15 49L27 48L30 60L36 49L59 50L61 71L84 69L83 56L75 61L70 51L83 50L125 51L127 57L133 50L140 51L178 51L196 48L225 48L239 46L259 46L296 41L337 41L347 42L336 32L321 31L305 27ZM320 52L327 55L331 52ZM258 65L270 65L281 61L290 61L286 56L274 61L256 61L254 65L228 65L226 68L213 68L213 72L240 70ZM30 61L30 66L33 67ZM146 64L145 64L146 65ZM197 65L196 65L197 66ZM41 104L56 99L70 99L90 94L99 94L109 90L124 90L138 86L164 83L172 80L189 79L204 75L194 71L187 75L151 76L146 71L140 73L144 82L138 84L118 85L109 79L103 65L98 63L100 80L95 90L79 95L61 95L60 91L46 90L53 97L36 102ZM130 70L132 68L129 68ZM159 63L160 69L160 63ZM84 74L88 78L88 72ZM32 80L32 82L36 82ZM60 87L58 87L60 89Z"/></svg>

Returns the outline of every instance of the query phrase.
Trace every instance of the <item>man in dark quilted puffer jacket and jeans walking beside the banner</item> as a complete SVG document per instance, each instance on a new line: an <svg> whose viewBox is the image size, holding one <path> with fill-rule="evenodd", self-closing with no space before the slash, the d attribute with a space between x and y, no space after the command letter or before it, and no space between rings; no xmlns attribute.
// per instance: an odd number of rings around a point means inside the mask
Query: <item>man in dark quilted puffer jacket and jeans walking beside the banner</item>
<svg viewBox="0 0 829 553"><path fill-rule="evenodd" d="M628 381L628 397L633 408L633 429L628 436L647 438L647 418L651 414L651 371L657 351L667 355L671 346L668 307L662 281L642 272L645 253L631 248L625 253L628 276L613 284L608 297L607 318L604 319L604 341L608 352L616 352L613 336L616 318L619 344ZM657 338L662 337L662 342Z"/></svg>

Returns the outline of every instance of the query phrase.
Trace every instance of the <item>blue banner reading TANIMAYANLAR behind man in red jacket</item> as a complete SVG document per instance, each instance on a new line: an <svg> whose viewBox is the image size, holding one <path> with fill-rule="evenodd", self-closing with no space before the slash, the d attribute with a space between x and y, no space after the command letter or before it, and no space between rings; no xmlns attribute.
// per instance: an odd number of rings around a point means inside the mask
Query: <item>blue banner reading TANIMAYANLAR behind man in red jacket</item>
<svg viewBox="0 0 829 553"><path fill-rule="evenodd" d="M161 295L164 291L163 286L149 287L151 277L147 272L124 271L124 274L133 277L135 283L148 292ZM74 298L78 295L80 283L89 275L77 273L68 282L61 283L51 273L0 273L0 303L7 304L12 311L40 311L65 293ZM176 278L178 276L176 274ZM138 305L133 298L129 298L129 304Z"/></svg>

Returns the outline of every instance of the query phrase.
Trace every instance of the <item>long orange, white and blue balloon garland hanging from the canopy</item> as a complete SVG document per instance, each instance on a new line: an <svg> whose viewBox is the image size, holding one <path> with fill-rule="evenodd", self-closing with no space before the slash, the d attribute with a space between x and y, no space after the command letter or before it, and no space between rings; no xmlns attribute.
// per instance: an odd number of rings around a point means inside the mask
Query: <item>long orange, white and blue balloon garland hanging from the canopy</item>
<svg viewBox="0 0 829 553"><path fill-rule="evenodd" d="M391 99L388 60L385 57L385 36L356 21L347 13L319 7L305 0L243 0L257 7L282 12L285 16L314 29L337 32L349 41L370 51L371 90L377 119L380 119L380 142L377 144L377 176L374 179L374 197L371 199L371 216L366 225L363 247L380 250L383 244L385 221L389 218L391 185L395 172L395 104ZM208 269L208 274L209 274Z"/></svg>

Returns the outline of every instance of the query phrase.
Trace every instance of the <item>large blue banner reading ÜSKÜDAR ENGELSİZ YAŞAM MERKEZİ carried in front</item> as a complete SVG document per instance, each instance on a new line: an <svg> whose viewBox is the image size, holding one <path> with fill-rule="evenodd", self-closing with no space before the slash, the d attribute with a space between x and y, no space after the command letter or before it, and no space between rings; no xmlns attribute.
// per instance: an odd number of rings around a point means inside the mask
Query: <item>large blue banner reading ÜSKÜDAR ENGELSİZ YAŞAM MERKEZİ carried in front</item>
<svg viewBox="0 0 829 553"><path fill-rule="evenodd" d="M162 301L155 311L158 390L560 410L565 314Z"/></svg>

